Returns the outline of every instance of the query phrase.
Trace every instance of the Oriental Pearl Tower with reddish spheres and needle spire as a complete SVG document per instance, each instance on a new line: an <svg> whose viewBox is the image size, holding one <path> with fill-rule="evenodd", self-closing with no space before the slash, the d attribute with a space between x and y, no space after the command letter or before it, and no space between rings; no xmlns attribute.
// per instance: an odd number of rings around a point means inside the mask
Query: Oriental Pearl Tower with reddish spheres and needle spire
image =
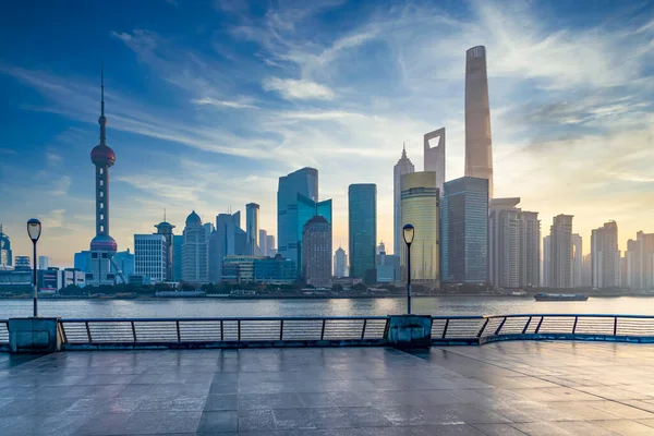
<svg viewBox="0 0 654 436"><path fill-rule="evenodd" d="M113 284L116 275L110 264L117 251L113 238L109 235L109 167L116 161L116 153L107 145L107 118L105 117L105 73L101 75L100 99L100 144L90 152L90 160L96 167L96 235L90 241L90 265L93 284Z"/></svg>

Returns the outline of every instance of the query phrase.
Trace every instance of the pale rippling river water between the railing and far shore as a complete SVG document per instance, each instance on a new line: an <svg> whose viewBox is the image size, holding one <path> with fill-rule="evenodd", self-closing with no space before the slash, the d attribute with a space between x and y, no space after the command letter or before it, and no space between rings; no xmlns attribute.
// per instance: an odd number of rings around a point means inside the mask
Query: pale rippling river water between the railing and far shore
<svg viewBox="0 0 654 436"><path fill-rule="evenodd" d="M39 300L40 316L62 318L348 316L405 312L404 299L332 300ZM654 315L654 298L596 298L585 302L536 302L533 298L414 298L412 312L428 315L589 313ZM0 300L0 319L32 316L32 300Z"/></svg>

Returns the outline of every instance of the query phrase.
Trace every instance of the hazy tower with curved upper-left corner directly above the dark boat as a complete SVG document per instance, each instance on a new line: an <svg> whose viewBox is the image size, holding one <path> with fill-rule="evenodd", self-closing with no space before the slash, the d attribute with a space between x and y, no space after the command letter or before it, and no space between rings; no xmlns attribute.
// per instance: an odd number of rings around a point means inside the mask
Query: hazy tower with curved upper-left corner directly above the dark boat
<svg viewBox="0 0 654 436"><path fill-rule="evenodd" d="M572 215L554 217L549 245L549 287L572 288Z"/></svg>

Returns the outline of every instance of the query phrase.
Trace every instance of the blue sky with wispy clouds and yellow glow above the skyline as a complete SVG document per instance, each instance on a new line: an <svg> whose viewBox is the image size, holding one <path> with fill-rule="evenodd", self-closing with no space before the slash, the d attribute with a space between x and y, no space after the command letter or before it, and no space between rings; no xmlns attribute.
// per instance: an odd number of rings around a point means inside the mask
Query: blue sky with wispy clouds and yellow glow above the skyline
<svg viewBox="0 0 654 436"><path fill-rule="evenodd" d="M463 175L465 50L486 46L495 195L620 247L654 232L654 4L649 1L0 2L0 222L14 255L71 266L95 232L105 64L110 233L119 250L167 219L181 233L261 205L277 233L278 178L319 171L348 245L351 183L377 184L392 252L392 167L446 128ZM244 222L242 223L244 227Z"/></svg>

